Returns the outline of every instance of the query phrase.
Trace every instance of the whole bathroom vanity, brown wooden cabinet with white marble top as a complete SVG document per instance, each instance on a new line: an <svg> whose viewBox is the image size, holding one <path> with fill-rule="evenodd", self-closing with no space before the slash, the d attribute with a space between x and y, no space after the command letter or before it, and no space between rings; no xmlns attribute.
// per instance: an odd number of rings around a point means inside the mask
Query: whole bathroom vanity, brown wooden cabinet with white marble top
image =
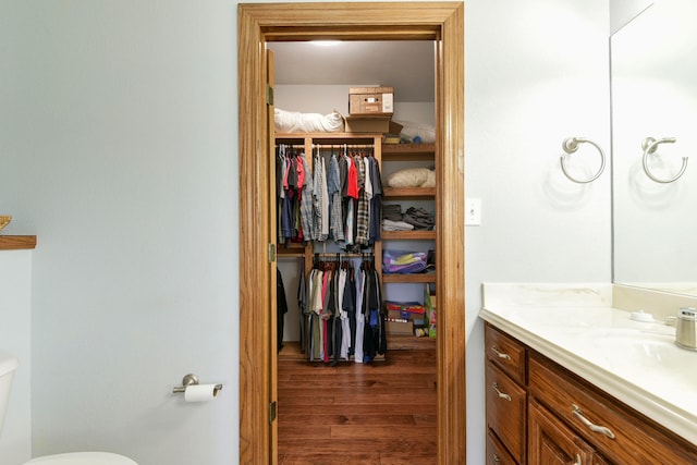
<svg viewBox="0 0 697 465"><path fill-rule="evenodd" d="M611 286L485 284L487 461L697 464L697 352Z"/></svg>

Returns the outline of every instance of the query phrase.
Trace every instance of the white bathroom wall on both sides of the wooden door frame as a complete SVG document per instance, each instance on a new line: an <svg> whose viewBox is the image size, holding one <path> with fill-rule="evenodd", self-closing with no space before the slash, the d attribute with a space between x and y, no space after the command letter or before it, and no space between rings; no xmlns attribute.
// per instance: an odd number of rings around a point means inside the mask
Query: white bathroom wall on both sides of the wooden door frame
<svg viewBox="0 0 697 465"><path fill-rule="evenodd" d="M0 199L37 233L34 452L237 462L236 2L0 5ZM470 0L466 22L468 463L484 457L482 281L610 279L607 0ZM590 155L578 155L595 160ZM26 336L28 339L28 335ZM186 372L213 403L170 394ZM77 420L78 419L78 420ZM4 464L3 464L4 465ZM8 464L13 465L13 464Z"/></svg>

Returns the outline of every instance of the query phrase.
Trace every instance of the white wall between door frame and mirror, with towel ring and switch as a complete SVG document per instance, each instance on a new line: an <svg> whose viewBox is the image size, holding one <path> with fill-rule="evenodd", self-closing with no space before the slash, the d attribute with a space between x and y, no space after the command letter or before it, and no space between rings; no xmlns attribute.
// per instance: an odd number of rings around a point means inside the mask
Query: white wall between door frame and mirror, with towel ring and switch
<svg viewBox="0 0 697 465"><path fill-rule="evenodd" d="M611 279L610 171L578 185L559 167L570 136L610 152L608 2L467 1L465 113L465 191L481 198L465 230L467 463L481 464L481 283Z"/></svg>

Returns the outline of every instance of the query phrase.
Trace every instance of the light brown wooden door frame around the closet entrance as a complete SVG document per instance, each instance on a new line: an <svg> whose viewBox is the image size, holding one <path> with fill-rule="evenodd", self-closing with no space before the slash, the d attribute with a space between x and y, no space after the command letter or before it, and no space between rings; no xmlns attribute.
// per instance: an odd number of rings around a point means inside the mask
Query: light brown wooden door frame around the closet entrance
<svg viewBox="0 0 697 465"><path fill-rule="evenodd" d="M240 131L240 463L277 463L268 244L274 238L266 108L266 42L437 44L438 463L466 461L464 270L464 3L256 3L237 7Z"/></svg>

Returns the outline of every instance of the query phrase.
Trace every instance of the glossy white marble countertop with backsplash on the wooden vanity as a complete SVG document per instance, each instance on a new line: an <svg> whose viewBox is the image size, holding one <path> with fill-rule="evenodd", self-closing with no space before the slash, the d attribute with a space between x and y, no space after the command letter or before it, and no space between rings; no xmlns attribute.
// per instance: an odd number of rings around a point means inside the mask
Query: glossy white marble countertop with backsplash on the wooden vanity
<svg viewBox="0 0 697 465"><path fill-rule="evenodd" d="M697 445L697 352L674 344L674 327L613 308L611 294L485 283L479 316Z"/></svg>

